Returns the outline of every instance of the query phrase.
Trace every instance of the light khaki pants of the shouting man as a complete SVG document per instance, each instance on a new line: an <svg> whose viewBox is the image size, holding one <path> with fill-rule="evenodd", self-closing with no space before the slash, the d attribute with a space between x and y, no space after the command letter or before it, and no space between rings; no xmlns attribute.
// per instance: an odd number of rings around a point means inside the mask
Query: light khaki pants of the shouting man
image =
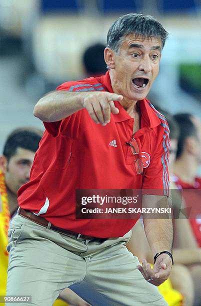
<svg viewBox="0 0 201 306"><path fill-rule="evenodd" d="M31 303L23 305L51 306L63 288L84 280L112 305L167 305L157 287L136 268L137 257L125 247L130 234L75 239L17 214L8 230L6 295L31 295Z"/></svg>

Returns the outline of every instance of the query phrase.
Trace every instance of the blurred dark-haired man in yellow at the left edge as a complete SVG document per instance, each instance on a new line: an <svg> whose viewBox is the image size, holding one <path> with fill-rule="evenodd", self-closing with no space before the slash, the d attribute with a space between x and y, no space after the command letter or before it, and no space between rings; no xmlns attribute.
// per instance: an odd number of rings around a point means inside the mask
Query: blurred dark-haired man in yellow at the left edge
<svg viewBox="0 0 201 306"><path fill-rule="evenodd" d="M42 131L37 128L17 128L8 135L0 155L0 295L5 295L7 229L18 208L17 190L29 180L41 137Z"/></svg>

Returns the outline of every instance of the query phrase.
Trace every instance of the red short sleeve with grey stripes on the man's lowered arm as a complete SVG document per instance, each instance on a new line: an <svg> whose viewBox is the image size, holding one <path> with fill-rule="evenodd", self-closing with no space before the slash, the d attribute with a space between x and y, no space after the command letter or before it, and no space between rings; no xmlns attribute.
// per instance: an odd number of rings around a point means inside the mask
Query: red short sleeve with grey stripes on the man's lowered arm
<svg viewBox="0 0 201 306"><path fill-rule="evenodd" d="M142 189L148 194L169 194L169 128L167 123L161 123L158 133L156 149L153 152L150 164L143 172ZM149 189L149 190L147 190ZM156 191L157 189L157 191Z"/></svg>

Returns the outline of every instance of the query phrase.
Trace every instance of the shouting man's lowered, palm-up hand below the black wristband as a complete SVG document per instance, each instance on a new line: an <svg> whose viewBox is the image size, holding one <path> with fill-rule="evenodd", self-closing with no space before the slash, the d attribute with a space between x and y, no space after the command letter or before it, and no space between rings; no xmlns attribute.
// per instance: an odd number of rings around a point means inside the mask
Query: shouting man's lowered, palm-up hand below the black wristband
<svg viewBox="0 0 201 306"><path fill-rule="evenodd" d="M172 261L168 254L162 253L156 258L153 268L145 259L142 260L142 266L137 265L137 268L147 281L159 286L169 277Z"/></svg>

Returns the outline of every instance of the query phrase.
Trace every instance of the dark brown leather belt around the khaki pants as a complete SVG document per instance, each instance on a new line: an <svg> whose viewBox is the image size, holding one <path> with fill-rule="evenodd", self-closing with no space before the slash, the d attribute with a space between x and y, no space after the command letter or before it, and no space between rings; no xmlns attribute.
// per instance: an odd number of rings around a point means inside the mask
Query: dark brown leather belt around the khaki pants
<svg viewBox="0 0 201 306"><path fill-rule="evenodd" d="M45 218L43 218L41 216L38 216L38 215L35 215L33 212L31 212L29 210L19 208L18 209L18 214L20 214L24 218L26 218L26 219L34 222L34 223L37 223L39 225L42 225L44 227L47 227L47 225L49 223ZM50 225L49 229L52 229L52 230L55 230L57 232L72 236L75 239L91 240L91 239L97 238L97 237L93 237L93 236L83 235L83 234L80 234L80 233L77 233L77 232L74 232L74 231L71 231L71 230L68 230L68 229L63 229L63 228L60 228L60 227L56 227L52 224Z"/></svg>

